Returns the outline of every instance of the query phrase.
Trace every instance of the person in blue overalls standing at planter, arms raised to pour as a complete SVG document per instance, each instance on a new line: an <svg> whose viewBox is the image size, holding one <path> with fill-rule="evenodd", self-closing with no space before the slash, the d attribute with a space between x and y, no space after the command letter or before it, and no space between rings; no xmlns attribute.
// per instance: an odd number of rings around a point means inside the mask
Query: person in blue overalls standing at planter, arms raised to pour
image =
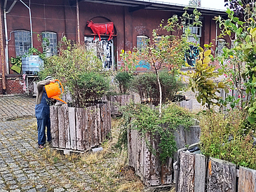
<svg viewBox="0 0 256 192"><path fill-rule="evenodd" d="M47 142L50 143L50 103L56 102L56 100L48 98L44 86L54 82L55 79L53 79L51 76L47 76L44 81L39 81L39 83L37 83L35 111L39 149L43 149L43 145L46 144L46 127Z"/></svg>

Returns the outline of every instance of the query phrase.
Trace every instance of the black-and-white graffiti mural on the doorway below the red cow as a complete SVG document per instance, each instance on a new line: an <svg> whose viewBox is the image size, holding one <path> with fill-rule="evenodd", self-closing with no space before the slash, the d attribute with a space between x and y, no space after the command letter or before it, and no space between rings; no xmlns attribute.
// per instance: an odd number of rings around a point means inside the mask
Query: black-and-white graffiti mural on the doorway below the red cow
<svg viewBox="0 0 256 192"><path fill-rule="evenodd" d="M99 38L86 36L84 38L85 46L88 50L93 50L95 55L102 60L102 67L105 69L112 69L114 63L114 43L113 40L107 41L107 38Z"/></svg>

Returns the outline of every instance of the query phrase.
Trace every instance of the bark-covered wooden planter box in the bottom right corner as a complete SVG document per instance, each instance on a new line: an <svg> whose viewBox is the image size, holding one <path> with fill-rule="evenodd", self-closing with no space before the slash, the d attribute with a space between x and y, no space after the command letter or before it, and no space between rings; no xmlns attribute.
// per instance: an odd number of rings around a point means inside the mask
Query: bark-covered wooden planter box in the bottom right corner
<svg viewBox="0 0 256 192"><path fill-rule="evenodd" d="M177 192L256 191L256 170L187 151L180 152L178 162Z"/></svg>

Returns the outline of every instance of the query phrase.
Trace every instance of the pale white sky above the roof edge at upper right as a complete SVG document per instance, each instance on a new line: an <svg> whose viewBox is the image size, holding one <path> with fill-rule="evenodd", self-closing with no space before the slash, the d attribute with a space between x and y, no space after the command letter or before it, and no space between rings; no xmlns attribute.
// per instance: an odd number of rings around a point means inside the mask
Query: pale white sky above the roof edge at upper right
<svg viewBox="0 0 256 192"><path fill-rule="evenodd" d="M189 0L157 0L157 1L170 2L173 4L189 5ZM227 9L224 7L224 0L201 0L201 7L215 8L220 10Z"/></svg>

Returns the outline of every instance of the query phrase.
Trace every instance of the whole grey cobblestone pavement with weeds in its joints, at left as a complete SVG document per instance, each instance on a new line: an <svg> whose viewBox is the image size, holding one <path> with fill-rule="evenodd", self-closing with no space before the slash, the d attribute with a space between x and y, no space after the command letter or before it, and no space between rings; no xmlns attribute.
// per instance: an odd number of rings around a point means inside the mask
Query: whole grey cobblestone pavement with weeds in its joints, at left
<svg viewBox="0 0 256 192"><path fill-rule="evenodd" d="M0 97L0 192L91 191L85 170L53 159L49 146L38 149L34 103L25 95ZM18 116L26 117L12 119Z"/></svg>

